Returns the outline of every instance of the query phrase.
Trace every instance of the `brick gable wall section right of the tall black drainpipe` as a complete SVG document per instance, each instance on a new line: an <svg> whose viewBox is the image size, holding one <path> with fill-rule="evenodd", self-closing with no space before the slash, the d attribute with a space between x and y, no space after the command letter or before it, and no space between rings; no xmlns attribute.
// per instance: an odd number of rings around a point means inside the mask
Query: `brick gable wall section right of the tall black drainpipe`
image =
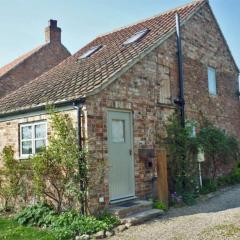
<svg viewBox="0 0 240 240"><path fill-rule="evenodd" d="M240 139L238 72L210 10L205 6L183 31L187 117L198 120L201 112ZM208 66L216 69L217 96L208 93Z"/></svg>

